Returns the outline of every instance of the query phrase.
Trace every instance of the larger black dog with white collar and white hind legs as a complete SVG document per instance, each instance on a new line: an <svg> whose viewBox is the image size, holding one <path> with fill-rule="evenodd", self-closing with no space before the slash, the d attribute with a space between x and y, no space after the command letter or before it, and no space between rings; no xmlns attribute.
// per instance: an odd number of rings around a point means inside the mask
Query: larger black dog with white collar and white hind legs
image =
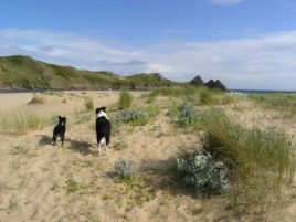
<svg viewBox="0 0 296 222"><path fill-rule="evenodd" d="M109 151L110 141L110 121L106 114L106 107L99 107L96 109L96 140L97 140L97 151L101 156L101 146L106 142L106 154Z"/></svg>

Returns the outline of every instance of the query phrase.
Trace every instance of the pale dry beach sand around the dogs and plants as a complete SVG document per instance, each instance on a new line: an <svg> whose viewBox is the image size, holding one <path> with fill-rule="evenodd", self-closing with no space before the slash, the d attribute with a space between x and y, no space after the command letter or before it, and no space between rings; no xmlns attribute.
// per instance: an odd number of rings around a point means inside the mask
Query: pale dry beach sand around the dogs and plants
<svg viewBox="0 0 296 222"><path fill-rule="evenodd" d="M141 93L136 93L139 97ZM95 106L110 107L118 93L65 92L46 95L45 103L28 105L31 94L0 94L0 112L31 108L40 115L66 115L68 128L64 147L51 146L54 125L27 135L0 133L0 221L252 221L225 210L223 200L201 201L173 187L170 169L179 147L198 142L195 135L175 129L163 109L154 123L126 126L112 138L110 154L97 156L91 121L77 121L84 97ZM66 102L63 102L66 101ZM166 107L161 99L160 106ZM295 119L283 119L252 103L228 105L225 110L241 123L252 126L274 124L295 135ZM123 137L128 148L119 149ZM294 138L295 144L295 138ZM103 149L103 151L105 151ZM130 159L137 168L136 179L120 183L114 163ZM296 221L296 204L284 211L268 212L266 221Z"/></svg>

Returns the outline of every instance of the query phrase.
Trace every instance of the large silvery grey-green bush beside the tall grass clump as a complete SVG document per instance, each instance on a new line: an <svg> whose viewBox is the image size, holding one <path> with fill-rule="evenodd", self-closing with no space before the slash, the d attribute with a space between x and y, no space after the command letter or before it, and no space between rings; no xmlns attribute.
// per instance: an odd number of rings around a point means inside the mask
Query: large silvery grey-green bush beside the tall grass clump
<svg viewBox="0 0 296 222"><path fill-rule="evenodd" d="M221 161L213 161L204 150L181 152L177 157L177 170L182 183L193 188L199 198L220 193L231 187L226 167Z"/></svg>

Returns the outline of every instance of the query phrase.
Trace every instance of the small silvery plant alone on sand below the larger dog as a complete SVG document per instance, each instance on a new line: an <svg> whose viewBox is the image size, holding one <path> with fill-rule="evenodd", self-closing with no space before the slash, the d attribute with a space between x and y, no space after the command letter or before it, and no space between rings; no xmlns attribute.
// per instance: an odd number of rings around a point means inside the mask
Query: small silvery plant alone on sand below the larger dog
<svg viewBox="0 0 296 222"><path fill-rule="evenodd" d="M130 160L118 160L114 165L114 169L120 179L129 180L135 173L134 162Z"/></svg>

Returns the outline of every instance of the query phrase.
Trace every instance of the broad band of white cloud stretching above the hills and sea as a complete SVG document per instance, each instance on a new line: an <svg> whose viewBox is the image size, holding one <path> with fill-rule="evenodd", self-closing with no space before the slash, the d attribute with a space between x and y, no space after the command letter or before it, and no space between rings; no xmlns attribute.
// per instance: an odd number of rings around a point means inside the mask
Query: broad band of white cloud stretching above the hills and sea
<svg viewBox="0 0 296 222"><path fill-rule="evenodd" d="M296 89L296 31L232 41L171 41L141 49L70 33L0 30L0 55L121 74L159 72L177 81L197 74L230 88Z"/></svg>

